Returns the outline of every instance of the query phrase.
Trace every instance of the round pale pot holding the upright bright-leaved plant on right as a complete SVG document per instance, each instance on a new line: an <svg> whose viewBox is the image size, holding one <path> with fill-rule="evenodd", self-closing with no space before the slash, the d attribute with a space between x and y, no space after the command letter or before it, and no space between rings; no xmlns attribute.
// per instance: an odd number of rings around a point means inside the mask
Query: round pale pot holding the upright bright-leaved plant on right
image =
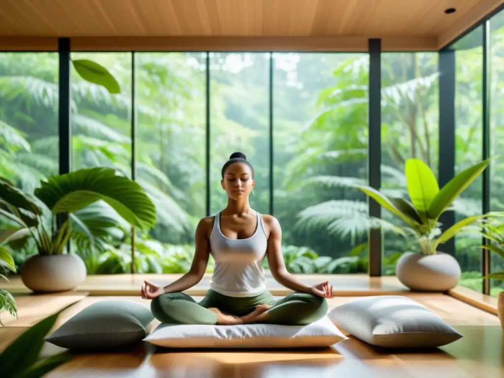
<svg viewBox="0 0 504 378"><path fill-rule="evenodd" d="M443 252L435 255L405 252L396 266L399 281L416 291L447 291L457 286L461 274L458 261Z"/></svg>

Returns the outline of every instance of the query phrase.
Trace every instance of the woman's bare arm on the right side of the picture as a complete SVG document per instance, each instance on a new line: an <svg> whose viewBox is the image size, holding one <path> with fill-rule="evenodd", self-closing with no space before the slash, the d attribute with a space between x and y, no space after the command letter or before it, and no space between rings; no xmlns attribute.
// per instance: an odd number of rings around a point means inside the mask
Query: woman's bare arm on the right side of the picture
<svg viewBox="0 0 504 378"><path fill-rule="evenodd" d="M311 286L298 281L287 271L282 255L282 228L278 220L271 215L263 216L264 222L270 230L268 237L268 265L273 278L283 286L305 293L313 293Z"/></svg>

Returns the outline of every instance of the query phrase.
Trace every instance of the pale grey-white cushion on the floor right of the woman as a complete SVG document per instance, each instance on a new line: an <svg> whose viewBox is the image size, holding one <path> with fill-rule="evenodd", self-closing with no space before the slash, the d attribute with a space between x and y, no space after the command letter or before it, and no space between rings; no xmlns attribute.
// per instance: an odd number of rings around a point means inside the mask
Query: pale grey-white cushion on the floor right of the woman
<svg viewBox="0 0 504 378"><path fill-rule="evenodd" d="M386 348L433 348L462 337L437 314L400 295L377 295L342 304L328 317L350 335Z"/></svg>

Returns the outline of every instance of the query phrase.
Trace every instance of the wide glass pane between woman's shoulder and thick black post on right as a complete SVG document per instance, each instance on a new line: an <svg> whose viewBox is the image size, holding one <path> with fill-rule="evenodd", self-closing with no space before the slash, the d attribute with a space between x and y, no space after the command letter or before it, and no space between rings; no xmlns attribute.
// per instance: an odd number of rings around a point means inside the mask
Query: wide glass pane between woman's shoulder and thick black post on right
<svg viewBox="0 0 504 378"><path fill-rule="evenodd" d="M274 215L293 273L367 272L368 54L275 53Z"/></svg>

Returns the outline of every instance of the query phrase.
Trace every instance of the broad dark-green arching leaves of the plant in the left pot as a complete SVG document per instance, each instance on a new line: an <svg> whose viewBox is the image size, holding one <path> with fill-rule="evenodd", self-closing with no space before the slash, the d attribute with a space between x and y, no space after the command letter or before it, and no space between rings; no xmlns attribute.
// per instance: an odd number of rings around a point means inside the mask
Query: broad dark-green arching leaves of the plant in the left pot
<svg viewBox="0 0 504 378"><path fill-rule="evenodd" d="M106 222L90 223L79 218L79 211L98 201L108 204L128 224L140 230L156 224L156 208L143 188L135 181L118 175L112 168L86 168L63 175L50 176L35 190L35 197L50 211L49 222L43 219L39 205L6 179L0 180L0 215L18 224L10 240L31 235L40 255L64 253L72 235L85 234L94 240L93 231L102 232L112 226ZM68 213L69 218L55 227L58 214ZM76 227L71 227L70 220ZM96 219L94 219L96 221ZM91 222L92 223L92 222ZM80 235L79 235L80 234Z"/></svg>

